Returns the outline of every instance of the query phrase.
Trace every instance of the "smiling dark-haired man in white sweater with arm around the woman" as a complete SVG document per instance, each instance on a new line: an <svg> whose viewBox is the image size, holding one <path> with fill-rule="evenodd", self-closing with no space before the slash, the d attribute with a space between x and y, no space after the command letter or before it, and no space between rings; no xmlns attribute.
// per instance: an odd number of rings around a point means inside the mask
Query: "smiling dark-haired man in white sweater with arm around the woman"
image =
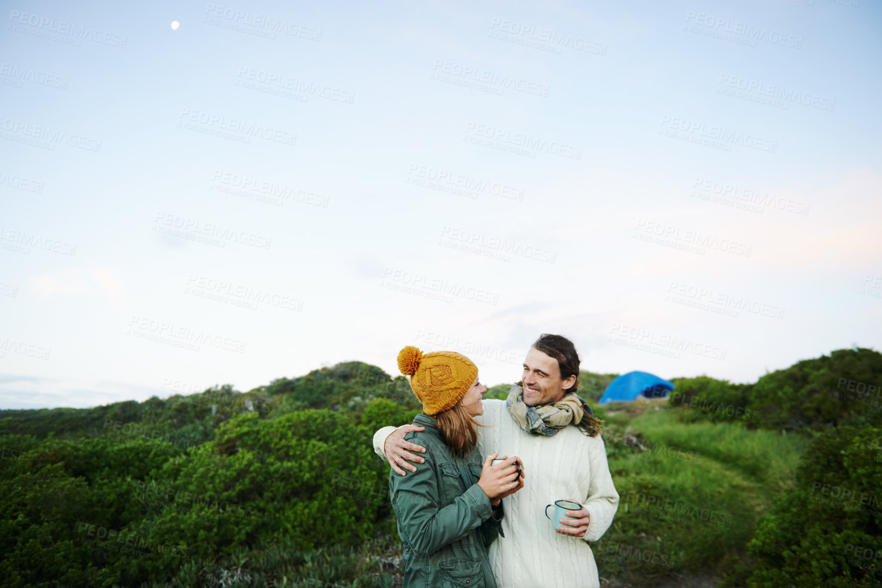
<svg viewBox="0 0 882 588"><path fill-rule="evenodd" d="M588 541L599 540L618 508L600 421L576 395L579 355L569 339L542 335L524 361L522 381L506 400L483 400L476 417L477 455L519 456L524 487L505 498L502 537L490 546L490 565L500 588L599 588ZM374 450L395 473L416 472L423 448L404 441L414 425L381 428ZM404 469L402 469L404 468ZM550 521L545 507L557 500L582 504L566 519ZM553 510L549 509L549 515ZM572 520L575 519L575 520ZM560 525L563 526L561 528Z"/></svg>

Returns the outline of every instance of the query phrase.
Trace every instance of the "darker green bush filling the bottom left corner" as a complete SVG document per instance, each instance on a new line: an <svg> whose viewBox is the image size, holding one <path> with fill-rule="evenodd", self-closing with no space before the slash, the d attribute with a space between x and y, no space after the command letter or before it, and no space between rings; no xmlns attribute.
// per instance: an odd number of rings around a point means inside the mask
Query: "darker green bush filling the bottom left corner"
<svg viewBox="0 0 882 588"><path fill-rule="evenodd" d="M146 516L132 476L160 467L167 450L183 454L168 443L101 438L49 436L34 445L33 437L7 435L4 443L32 445L6 465L0 480L0 577L15 587L113 584L120 555L106 548L117 547L108 533L118 537Z"/></svg>

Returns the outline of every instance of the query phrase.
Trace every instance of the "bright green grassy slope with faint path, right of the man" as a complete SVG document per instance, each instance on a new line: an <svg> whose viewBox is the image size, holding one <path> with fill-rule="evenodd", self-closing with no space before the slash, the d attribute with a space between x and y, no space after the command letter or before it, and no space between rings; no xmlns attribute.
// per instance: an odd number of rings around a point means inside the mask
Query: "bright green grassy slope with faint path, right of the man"
<svg viewBox="0 0 882 588"><path fill-rule="evenodd" d="M649 450L621 441L629 426ZM674 572L732 569L807 445L735 423L685 424L662 410L617 413L604 437L620 502L595 560L602 576L647 586Z"/></svg>

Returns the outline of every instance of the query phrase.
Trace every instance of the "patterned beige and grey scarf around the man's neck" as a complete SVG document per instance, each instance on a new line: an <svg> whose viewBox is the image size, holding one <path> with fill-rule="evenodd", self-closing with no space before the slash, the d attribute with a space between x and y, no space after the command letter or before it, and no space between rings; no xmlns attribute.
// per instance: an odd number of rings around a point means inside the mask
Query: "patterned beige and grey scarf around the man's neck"
<svg viewBox="0 0 882 588"><path fill-rule="evenodd" d="M527 406L524 404L524 389L516 383L508 393L505 406L512 419L530 435L550 437L567 425L576 425L593 437L601 432L601 421L594 417L588 403L574 392L564 394L564 398L554 404Z"/></svg>

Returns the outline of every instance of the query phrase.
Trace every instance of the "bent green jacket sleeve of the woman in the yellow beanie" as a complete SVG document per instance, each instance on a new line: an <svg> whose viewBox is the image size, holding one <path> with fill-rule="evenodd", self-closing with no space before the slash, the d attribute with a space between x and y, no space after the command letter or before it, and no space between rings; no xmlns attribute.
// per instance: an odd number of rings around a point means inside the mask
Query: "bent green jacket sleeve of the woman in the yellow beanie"
<svg viewBox="0 0 882 588"><path fill-rule="evenodd" d="M414 443L419 443L414 439ZM426 463L416 472L400 476L389 473L392 508L398 519L401 540L415 555L426 557L468 532L490 517L490 498L476 483L443 509L438 508L437 464L426 447Z"/></svg>

